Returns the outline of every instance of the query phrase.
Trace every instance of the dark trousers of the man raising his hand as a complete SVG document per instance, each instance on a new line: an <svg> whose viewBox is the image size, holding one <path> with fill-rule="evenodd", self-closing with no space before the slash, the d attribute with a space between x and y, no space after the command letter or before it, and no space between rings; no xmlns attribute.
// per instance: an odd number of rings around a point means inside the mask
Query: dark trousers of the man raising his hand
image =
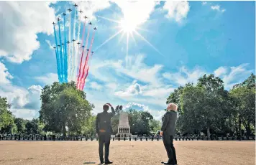
<svg viewBox="0 0 256 165"><path fill-rule="evenodd" d="M103 159L103 146L105 144L105 161L109 160L109 144L110 144L110 133L99 133L99 159L100 161L104 161Z"/></svg>

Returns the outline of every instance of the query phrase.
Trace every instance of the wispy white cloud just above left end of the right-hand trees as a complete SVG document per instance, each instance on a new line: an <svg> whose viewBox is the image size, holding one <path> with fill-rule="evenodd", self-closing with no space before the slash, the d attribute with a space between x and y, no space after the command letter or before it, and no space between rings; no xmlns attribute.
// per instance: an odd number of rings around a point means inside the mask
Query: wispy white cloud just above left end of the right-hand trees
<svg viewBox="0 0 256 165"><path fill-rule="evenodd" d="M178 85L186 85L186 83L196 83L198 77L201 77L204 74L206 74L206 71L204 71L201 67L195 67L193 70L188 70L185 66L183 66L180 67L179 72L163 73L163 77Z"/></svg>

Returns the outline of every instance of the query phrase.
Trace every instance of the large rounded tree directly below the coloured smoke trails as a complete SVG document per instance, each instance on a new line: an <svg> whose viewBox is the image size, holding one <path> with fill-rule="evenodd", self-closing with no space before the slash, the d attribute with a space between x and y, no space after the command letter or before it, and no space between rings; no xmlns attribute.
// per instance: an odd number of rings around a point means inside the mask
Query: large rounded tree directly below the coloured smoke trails
<svg viewBox="0 0 256 165"><path fill-rule="evenodd" d="M46 85L41 94L40 121L45 131L82 133L84 121L91 116L94 106L86 100L86 94L76 90L76 83Z"/></svg>

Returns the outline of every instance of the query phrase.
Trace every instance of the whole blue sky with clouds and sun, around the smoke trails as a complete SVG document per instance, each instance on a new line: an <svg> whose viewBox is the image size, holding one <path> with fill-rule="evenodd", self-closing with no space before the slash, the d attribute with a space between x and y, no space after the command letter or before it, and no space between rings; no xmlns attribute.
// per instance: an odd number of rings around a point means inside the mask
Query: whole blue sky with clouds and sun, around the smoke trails
<svg viewBox="0 0 256 165"><path fill-rule="evenodd" d="M74 3L0 1L0 96L17 117L37 118L58 81L52 22ZM255 73L255 1L77 3L98 28L83 89L94 114L111 103L159 120L180 85L214 73L229 90Z"/></svg>

